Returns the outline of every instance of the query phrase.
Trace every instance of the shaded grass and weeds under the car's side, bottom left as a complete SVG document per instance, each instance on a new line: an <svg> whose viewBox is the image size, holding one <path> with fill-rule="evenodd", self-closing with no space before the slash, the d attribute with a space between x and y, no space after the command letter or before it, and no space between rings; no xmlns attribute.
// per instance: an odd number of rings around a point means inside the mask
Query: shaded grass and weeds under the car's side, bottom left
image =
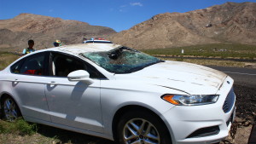
<svg viewBox="0 0 256 144"><path fill-rule="evenodd" d="M22 125L22 126L20 126ZM33 128L33 125L37 129ZM113 144L100 137L61 130L43 124L27 123L23 119L9 123L0 119L0 144Z"/></svg>

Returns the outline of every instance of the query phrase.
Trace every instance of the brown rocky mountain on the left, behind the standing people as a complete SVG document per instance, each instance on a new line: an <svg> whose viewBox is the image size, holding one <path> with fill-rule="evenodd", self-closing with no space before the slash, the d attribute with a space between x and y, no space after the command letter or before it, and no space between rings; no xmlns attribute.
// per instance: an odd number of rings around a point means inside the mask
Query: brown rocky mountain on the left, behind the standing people
<svg viewBox="0 0 256 144"><path fill-rule="evenodd" d="M34 48L53 47L60 39L65 44L82 43L84 37L108 37L116 33L104 26L90 26L77 20L62 20L38 14L19 14L14 19L0 20L0 49L20 51L27 41L35 41Z"/></svg>

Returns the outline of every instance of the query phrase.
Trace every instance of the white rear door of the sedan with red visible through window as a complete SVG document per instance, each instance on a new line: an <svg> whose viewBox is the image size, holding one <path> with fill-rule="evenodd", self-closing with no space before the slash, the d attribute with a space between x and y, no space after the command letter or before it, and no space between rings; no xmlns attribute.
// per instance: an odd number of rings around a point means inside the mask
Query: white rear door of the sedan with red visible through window
<svg viewBox="0 0 256 144"><path fill-rule="evenodd" d="M49 55L38 53L28 56L11 66L12 92L20 100L24 118L50 121L44 88L48 82Z"/></svg>

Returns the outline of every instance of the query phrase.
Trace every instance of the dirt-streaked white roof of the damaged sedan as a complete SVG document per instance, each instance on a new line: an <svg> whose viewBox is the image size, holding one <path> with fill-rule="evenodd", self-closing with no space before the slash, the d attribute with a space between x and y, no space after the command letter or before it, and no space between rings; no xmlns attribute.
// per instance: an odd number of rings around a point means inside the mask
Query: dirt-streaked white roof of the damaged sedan
<svg viewBox="0 0 256 144"><path fill-rule="evenodd" d="M115 43L79 43L71 45L63 45L61 47L49 48L47 50L61 51L79 55L80 53L109 51L120 47L121 45Z"/></svg>

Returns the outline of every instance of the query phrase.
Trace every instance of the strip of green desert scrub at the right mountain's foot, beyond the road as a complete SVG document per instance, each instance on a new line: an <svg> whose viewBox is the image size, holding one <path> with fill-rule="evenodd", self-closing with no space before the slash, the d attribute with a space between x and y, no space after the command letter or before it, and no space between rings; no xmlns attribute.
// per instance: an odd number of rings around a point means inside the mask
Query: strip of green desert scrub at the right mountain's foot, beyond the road
<svg viewBox="0 0 256 144"><path fill-rule="evenodd" d="M181 53L183 49L183 54ZM239 58L253 60L256 58L256 46L239 43L214 43L179 48L143 49L149 55L189 55L200 57Z"/></svg>

